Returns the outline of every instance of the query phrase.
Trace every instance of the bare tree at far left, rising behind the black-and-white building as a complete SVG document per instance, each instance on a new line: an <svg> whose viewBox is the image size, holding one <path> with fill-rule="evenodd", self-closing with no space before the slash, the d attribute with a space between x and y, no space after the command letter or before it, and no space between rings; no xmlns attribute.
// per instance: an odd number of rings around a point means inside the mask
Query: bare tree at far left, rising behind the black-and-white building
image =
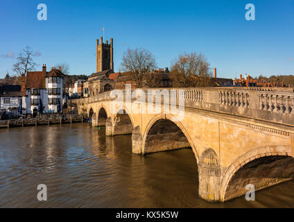
<svg viewBox="0 0 294 222"><path fill-rule="evenodd" d="M25 75L28 71L35 69L35 62L33 62L34 53L30 46L26 46L25 49L17 56L17 62L12 66L12 70L16 72L18 76Z"/></svg>

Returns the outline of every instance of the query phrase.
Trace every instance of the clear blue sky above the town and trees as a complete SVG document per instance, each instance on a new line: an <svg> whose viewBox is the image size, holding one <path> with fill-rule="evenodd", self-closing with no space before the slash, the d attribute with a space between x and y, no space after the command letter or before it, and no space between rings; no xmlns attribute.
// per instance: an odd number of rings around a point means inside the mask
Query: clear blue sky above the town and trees
<svg viewBox="0 0 294 222"><path fill-rule="evenodd" d="M47 21L37 5L47 6ZM245 19L253 3L255 21ZM201 52L218 77L294 74L294 0L61 1L1 0L0 78L12 73L25 46L38 52L37 70L66 62L70 74L96 71L96 39L114 38L114 71L123 51L144 47L158 67L179 53Z"/></svg>

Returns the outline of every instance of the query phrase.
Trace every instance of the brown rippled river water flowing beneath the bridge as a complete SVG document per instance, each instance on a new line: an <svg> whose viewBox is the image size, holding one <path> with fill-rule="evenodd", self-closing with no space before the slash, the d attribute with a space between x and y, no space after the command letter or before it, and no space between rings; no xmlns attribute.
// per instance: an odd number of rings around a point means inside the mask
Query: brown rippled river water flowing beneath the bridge
<svg viewBox="0 0 294 222"><path fill-rule="evenodd" d="M0 207L294 207L294 182L208 203L189 149L132 154L130 135L87 123L0 129ZM47 200L37 200L37 185Z"/></svg>

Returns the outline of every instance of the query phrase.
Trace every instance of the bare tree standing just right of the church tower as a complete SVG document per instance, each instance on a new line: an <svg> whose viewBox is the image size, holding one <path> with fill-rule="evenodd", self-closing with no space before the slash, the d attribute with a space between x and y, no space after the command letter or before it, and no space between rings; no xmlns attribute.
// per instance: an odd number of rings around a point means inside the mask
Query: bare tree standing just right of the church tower
<svg viewBox="0 0 294 222"><path fill-rule="evenodd" d="M150 51L137 48L128 49L123 54L123 62L121 62L122 71L130 71L135 79L137 87L144 86L144 74L155 69L155 58Z"/></svg>

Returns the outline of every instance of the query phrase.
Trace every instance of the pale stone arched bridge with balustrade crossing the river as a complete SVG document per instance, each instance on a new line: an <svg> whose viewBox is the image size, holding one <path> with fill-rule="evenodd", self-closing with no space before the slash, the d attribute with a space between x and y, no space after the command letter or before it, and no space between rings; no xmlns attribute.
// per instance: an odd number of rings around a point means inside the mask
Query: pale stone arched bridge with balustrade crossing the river
<svg viewBox="0 0 294 222"><path fill-rule="evenodd" d="M294 177L293 88L125 89L72 103L106 135L132 134L132 153L191 148L205 200Z"/></svg>

